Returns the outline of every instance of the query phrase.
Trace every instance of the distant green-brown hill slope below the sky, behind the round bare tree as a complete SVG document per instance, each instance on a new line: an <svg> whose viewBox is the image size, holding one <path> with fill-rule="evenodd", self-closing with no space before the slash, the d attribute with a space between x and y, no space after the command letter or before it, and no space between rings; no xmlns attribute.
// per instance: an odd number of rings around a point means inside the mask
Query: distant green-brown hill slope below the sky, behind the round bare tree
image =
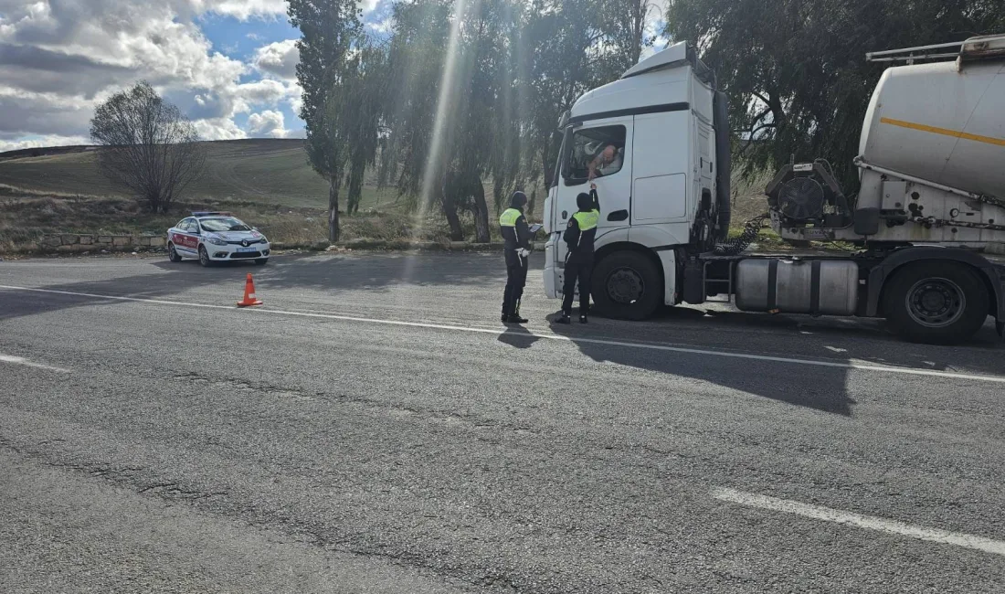
<svg viewBox="0 0 1005 594"><path fill-rule="evenodd" d="M304 141L220 141L206 147L206 173L184 200L328 206L328 183L308 165ZM95 154L88 147L0 153L0 184L64 195L122 196L97 171ZM362 206L386 208L394 200L394 190L366 187Z"/></svg>

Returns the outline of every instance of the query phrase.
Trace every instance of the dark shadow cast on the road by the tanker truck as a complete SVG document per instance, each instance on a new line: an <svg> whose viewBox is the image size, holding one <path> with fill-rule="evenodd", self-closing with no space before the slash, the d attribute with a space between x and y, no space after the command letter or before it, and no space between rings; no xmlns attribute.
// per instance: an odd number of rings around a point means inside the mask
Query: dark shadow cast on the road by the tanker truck
<svg viewBox="0 0 1005 594"><path fill-rule="evenodd" d="M578 317L573 312L573 320ZM551 318L551 317L550 317ZM600 323L595 323L595 321ZM675 332L686 326L706 340L680 343ZM611 328L616 328L611 332ZM801 365L754 358L730 358L699 351L728 352L779 359L819 359L838 366L861 364L954 371L958 361L968 373L1001 375L999 341L986 327L967 346L912 345L886 334L880 322L814 320L743 312L706 312L672 308L644 323L618 322L591 316L589 327L575 322L552 324L551 330L573 342L593 361L693 378L765 398L827 413L850 416L855 400L848 392L846 367ZM600 331L600 332L598 332ZM716 343L719 335L732 337ZM605 341L673 346L682 351L632 348ZM793 347L796 346L794 349ZM826 355L820 353L821 348ZM886 380L888 381L888 380Z"/></svg>

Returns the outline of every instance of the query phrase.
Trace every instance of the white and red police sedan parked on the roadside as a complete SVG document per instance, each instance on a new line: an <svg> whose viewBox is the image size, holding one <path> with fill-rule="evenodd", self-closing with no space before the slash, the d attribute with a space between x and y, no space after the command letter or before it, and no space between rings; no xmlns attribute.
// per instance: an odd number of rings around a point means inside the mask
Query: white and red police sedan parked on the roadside
<svg viewBox="0 0 1005 594"><path fill-rule="evenodd" d="M173 262L199 258L200 264L208 266L253 259L264 264L270 251L264 235L229 212L193 212L168 229L168 258Z"/></svg>

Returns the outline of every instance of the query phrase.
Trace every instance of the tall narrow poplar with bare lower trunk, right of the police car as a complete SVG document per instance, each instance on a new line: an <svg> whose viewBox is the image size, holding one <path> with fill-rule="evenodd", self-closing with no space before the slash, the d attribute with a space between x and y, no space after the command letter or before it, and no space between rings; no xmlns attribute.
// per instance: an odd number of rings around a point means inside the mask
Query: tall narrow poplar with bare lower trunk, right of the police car
<svg viewBox="0 0 1005 594"><path fill-rule="evenodd" d="M304 88L308 160L329 182L328 238L334 243L339 240L339 186L350 156L349 60L363 28L361 11L356 0L287 1L289 22L300 30L296 79Z"/></svg>

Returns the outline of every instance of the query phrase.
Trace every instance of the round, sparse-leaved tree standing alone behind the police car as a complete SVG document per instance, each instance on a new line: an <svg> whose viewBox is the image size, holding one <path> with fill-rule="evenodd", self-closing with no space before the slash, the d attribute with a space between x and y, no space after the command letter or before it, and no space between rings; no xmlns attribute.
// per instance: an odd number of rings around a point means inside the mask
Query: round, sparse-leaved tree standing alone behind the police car
<svg viewBox="0 0 1005 594"><path fill-rule="evenodd" d="M117 92L90 121L102 173L165 213L200 175L206 149L195 127L147 82Z"/></svg>

